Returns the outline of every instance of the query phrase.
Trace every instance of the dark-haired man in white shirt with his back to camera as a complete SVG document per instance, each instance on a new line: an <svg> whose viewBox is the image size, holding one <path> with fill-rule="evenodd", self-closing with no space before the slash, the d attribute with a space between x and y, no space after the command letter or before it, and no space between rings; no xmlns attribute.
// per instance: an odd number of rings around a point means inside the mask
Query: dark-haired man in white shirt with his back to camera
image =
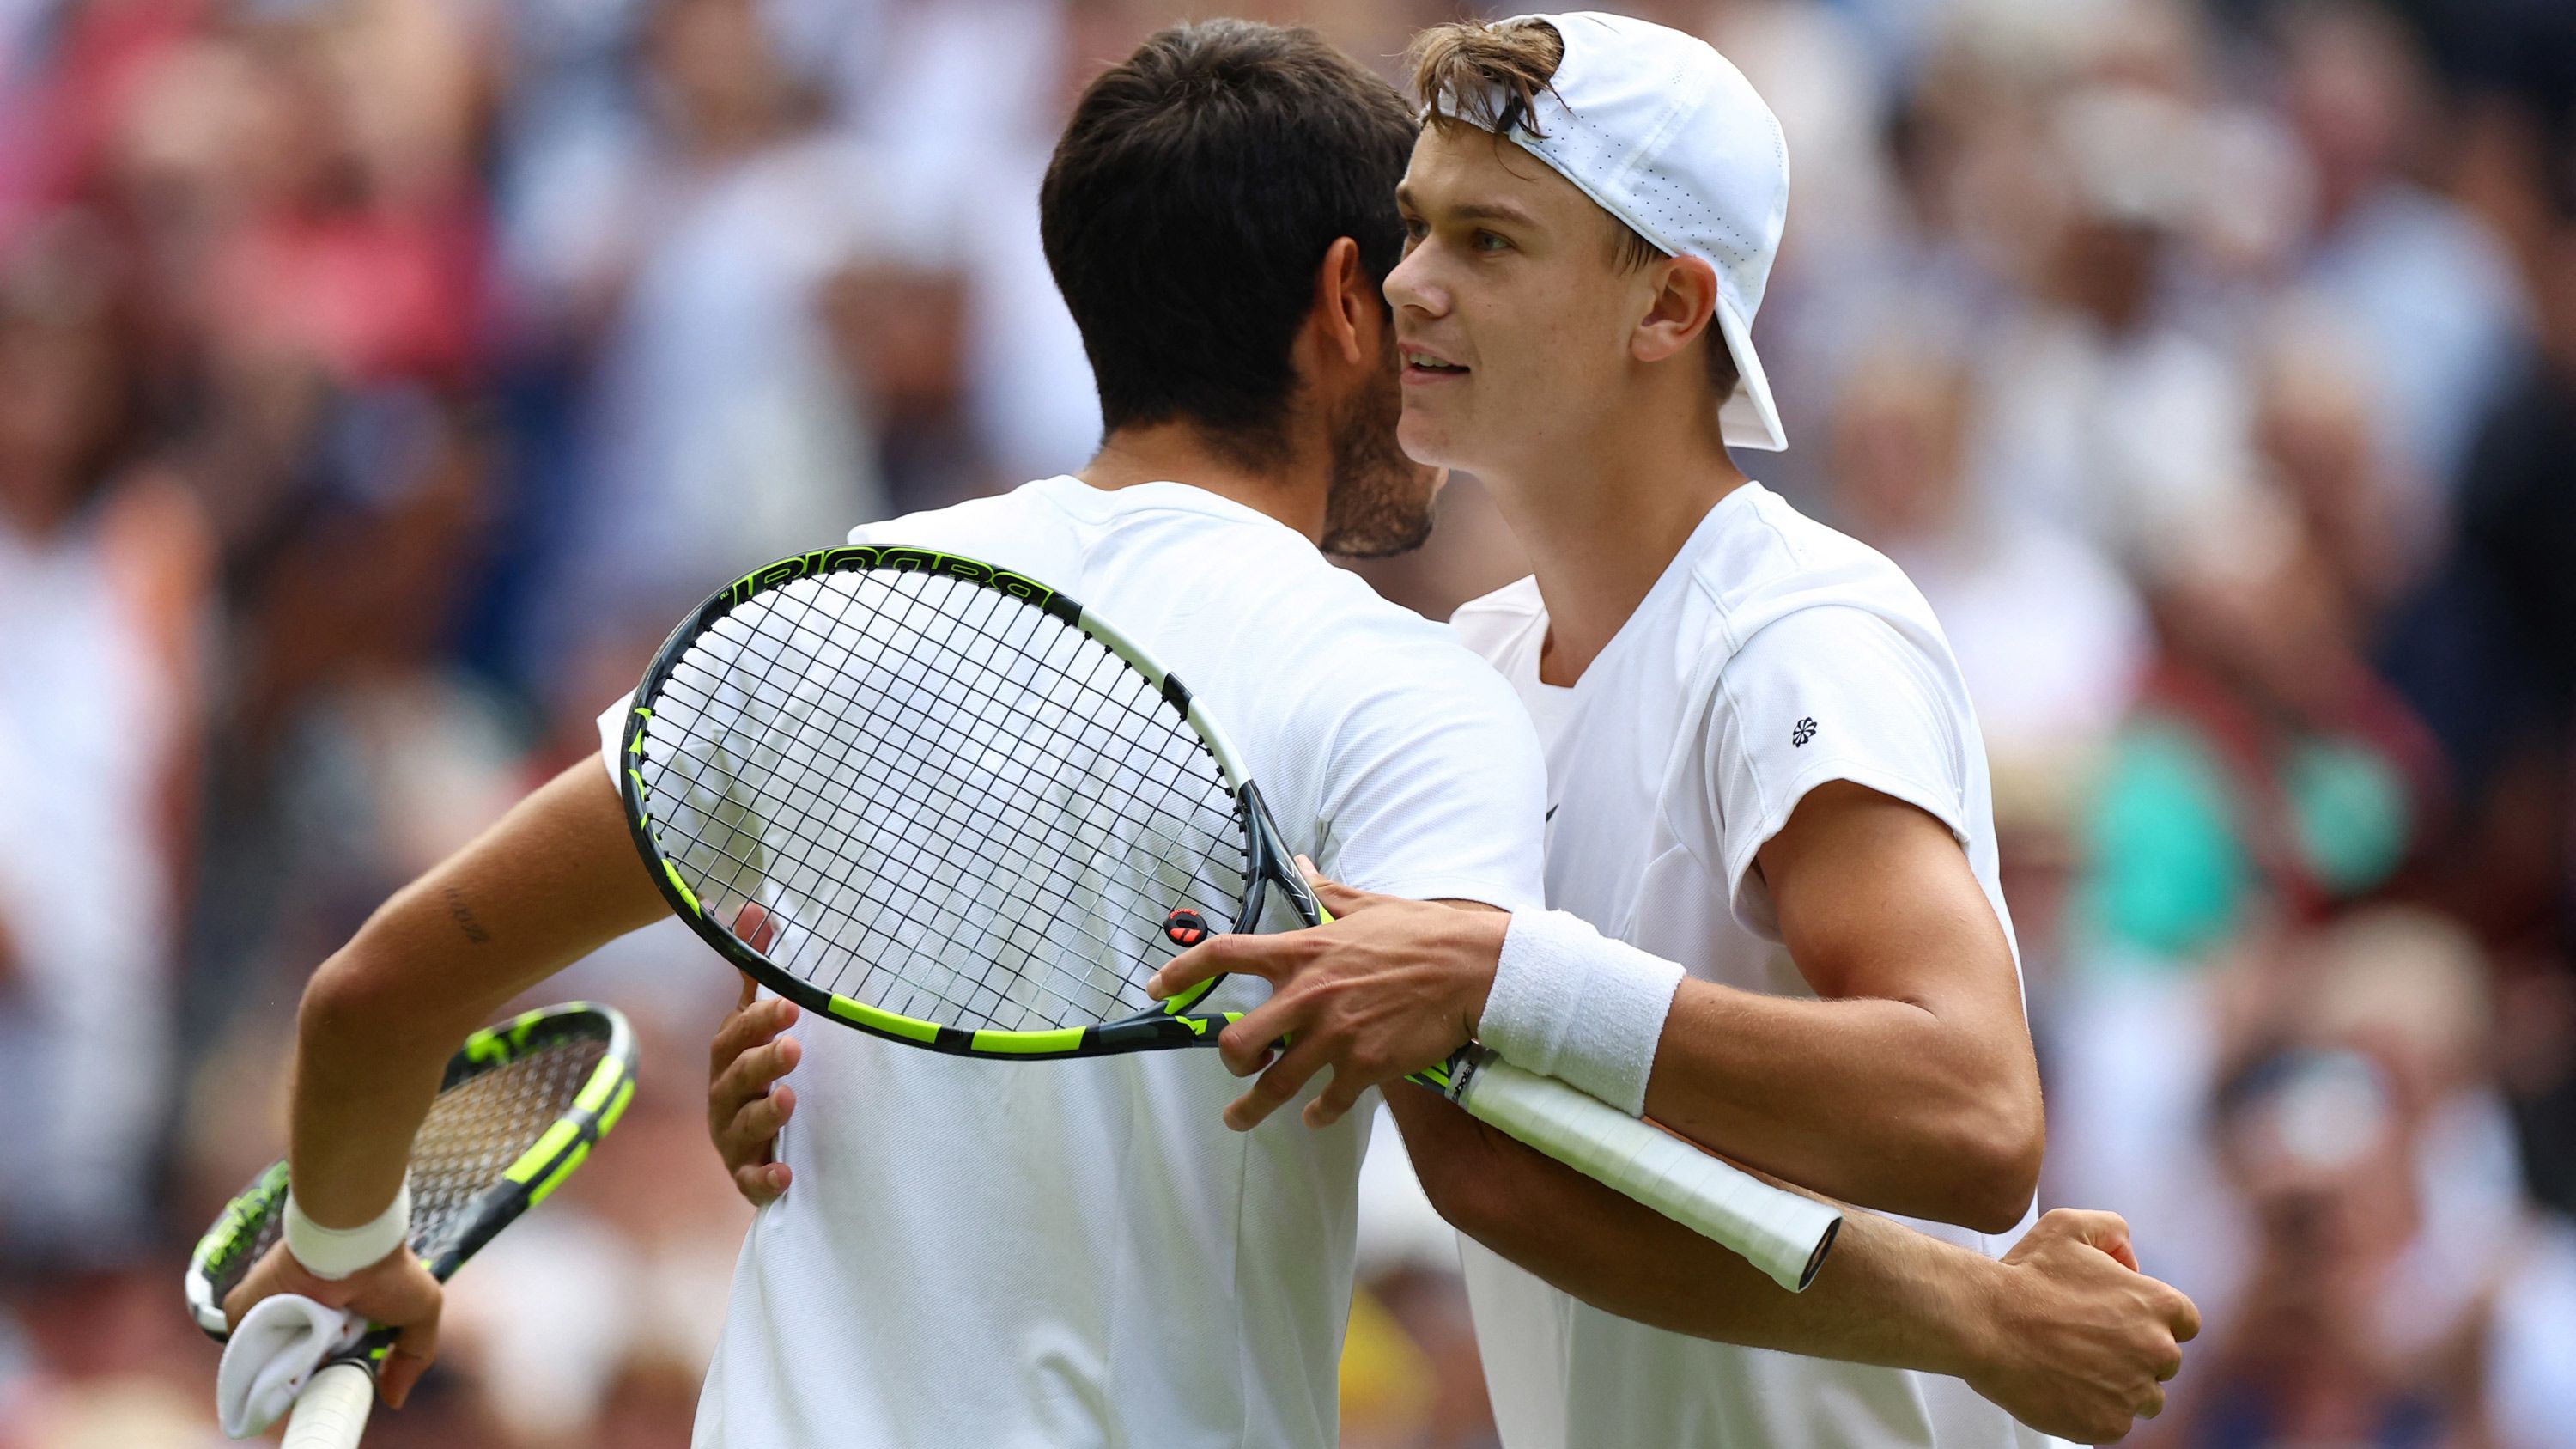
<svg viewBox="0 0 2576 1449"><path fill-rule="evenodd" d="M992 559L1113 616L1231 724L1291 846L1337 877L1528 913L1543 763L1510 688L1319 552L1419 539L1437 485L1388 441L1381 286L1404 240L1386 196L1412 131L1391 88L1311 34L1226 21L1149 39L1082 95L1043 191L1048 263L1100 382L1100 454L853 536ZM438 1292L399 1250L397 1189L440 1060L659 913L592 761L379 910L307 990L289 1240L227 1310L291 1289L404 1323L399 1400ZM1221 1006L1262 993L1226 990ZM783 1016L760 1003L744 1021ZM840 1029L799 1049L804 1104L762 1168L796 1191L744 1243L698 1444L1334 1441L1365 1119L1229 1132L1231 1080L1198 1052L994 1067ZM791 1057L770 1044L737 1065ZM757 1106L768 1129L788 1114L783 1093ZM1574 1173L1530 1152L1425 1171L1564 1194L1600 1279L1651 1263L1723 1281L1734 1263L1615 1194L1574 1196ZM1989 1263L1855 1220L1832 1289L1728 1323L1795 1346L1808 1318L1865 1315L2035 1413L2107 1413L2161 1320L2136 1297L2148 1279L2087 1235L2102 1225L2043 1227L2020 1263Z"/></svg>

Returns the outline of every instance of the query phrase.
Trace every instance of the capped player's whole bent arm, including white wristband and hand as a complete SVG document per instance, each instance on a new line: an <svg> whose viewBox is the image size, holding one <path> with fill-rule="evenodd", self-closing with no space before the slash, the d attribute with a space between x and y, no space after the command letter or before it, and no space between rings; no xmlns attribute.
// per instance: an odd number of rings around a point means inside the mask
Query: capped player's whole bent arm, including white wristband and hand
<svg viewBox="0 0 2576 1449"><path fill-rule="evenodd" d="M1149 990L1218 972L1273 982L1221 1036L1236 1075L1262 1073L1226 1109L1236 1129L1332 1067L1306 1104L1321 1127L1481 1036L1824 1196L2007 1232L2038 1186L2040 1075L2012 946L1958 841L1837 781L1808 792L1759 869L1814 1000L1674 990L1680 967L1564 913L1507 918L1324 879L1332 926L1216 936ZM1293 1044L1273 1055L1283 1036Z"/></svg>

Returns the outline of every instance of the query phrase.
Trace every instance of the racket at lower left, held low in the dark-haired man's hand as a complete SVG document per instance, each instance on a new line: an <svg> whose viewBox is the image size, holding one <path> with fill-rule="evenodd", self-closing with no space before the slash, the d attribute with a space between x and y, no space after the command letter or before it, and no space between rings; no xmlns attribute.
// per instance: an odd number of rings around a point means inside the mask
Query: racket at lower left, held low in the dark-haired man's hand
<svg viewBox="0 0 2576 1449"><path fill-rule="evenodd" d="M412 1253L446 1281L495 1232L546 1201L636 1091L636 1044L613 1008L569 1003L487 1026L448 1060L412 1137ZM188 1258L188 1315L224 1341L224 1294L278 1240L286 1163L224 1207ZM286 1449L350 1449L376 1403L397 1330L371 1328L296 1397Z"/></svg>

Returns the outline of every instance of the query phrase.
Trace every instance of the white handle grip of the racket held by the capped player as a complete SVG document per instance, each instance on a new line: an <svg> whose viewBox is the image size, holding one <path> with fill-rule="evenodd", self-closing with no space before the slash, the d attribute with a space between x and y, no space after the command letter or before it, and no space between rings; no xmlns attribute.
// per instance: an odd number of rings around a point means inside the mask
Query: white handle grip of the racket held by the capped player
<svg viewBox="0 0 2576 1449"><path fill-rule="evenodd" d="M1600 1178L1798 1292L1834 1245L1842 1209L1775 1189L1556 1078L1486 1055L1458 1093L1468 1116Z"/></svg>

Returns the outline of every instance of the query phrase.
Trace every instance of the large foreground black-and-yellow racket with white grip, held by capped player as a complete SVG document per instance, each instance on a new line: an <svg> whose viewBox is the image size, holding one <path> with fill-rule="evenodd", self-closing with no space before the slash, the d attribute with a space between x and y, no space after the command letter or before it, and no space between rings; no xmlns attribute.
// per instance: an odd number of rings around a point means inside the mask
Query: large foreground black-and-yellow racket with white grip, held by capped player
<svg viewBox="0 0 2576 1449"><path fill-rule="evenodd" d="M1216 982L1151 1000L1167 920L1324 920L1190 691L1072 598L842 547L744 575L662 645L626 820L690 928L829 1021L966 1057L1213 1047ZM1177 910L1175 910L1177 908ZM1842 1217L1468 1047L1417 1075L1790 1289Z"/></svg>

